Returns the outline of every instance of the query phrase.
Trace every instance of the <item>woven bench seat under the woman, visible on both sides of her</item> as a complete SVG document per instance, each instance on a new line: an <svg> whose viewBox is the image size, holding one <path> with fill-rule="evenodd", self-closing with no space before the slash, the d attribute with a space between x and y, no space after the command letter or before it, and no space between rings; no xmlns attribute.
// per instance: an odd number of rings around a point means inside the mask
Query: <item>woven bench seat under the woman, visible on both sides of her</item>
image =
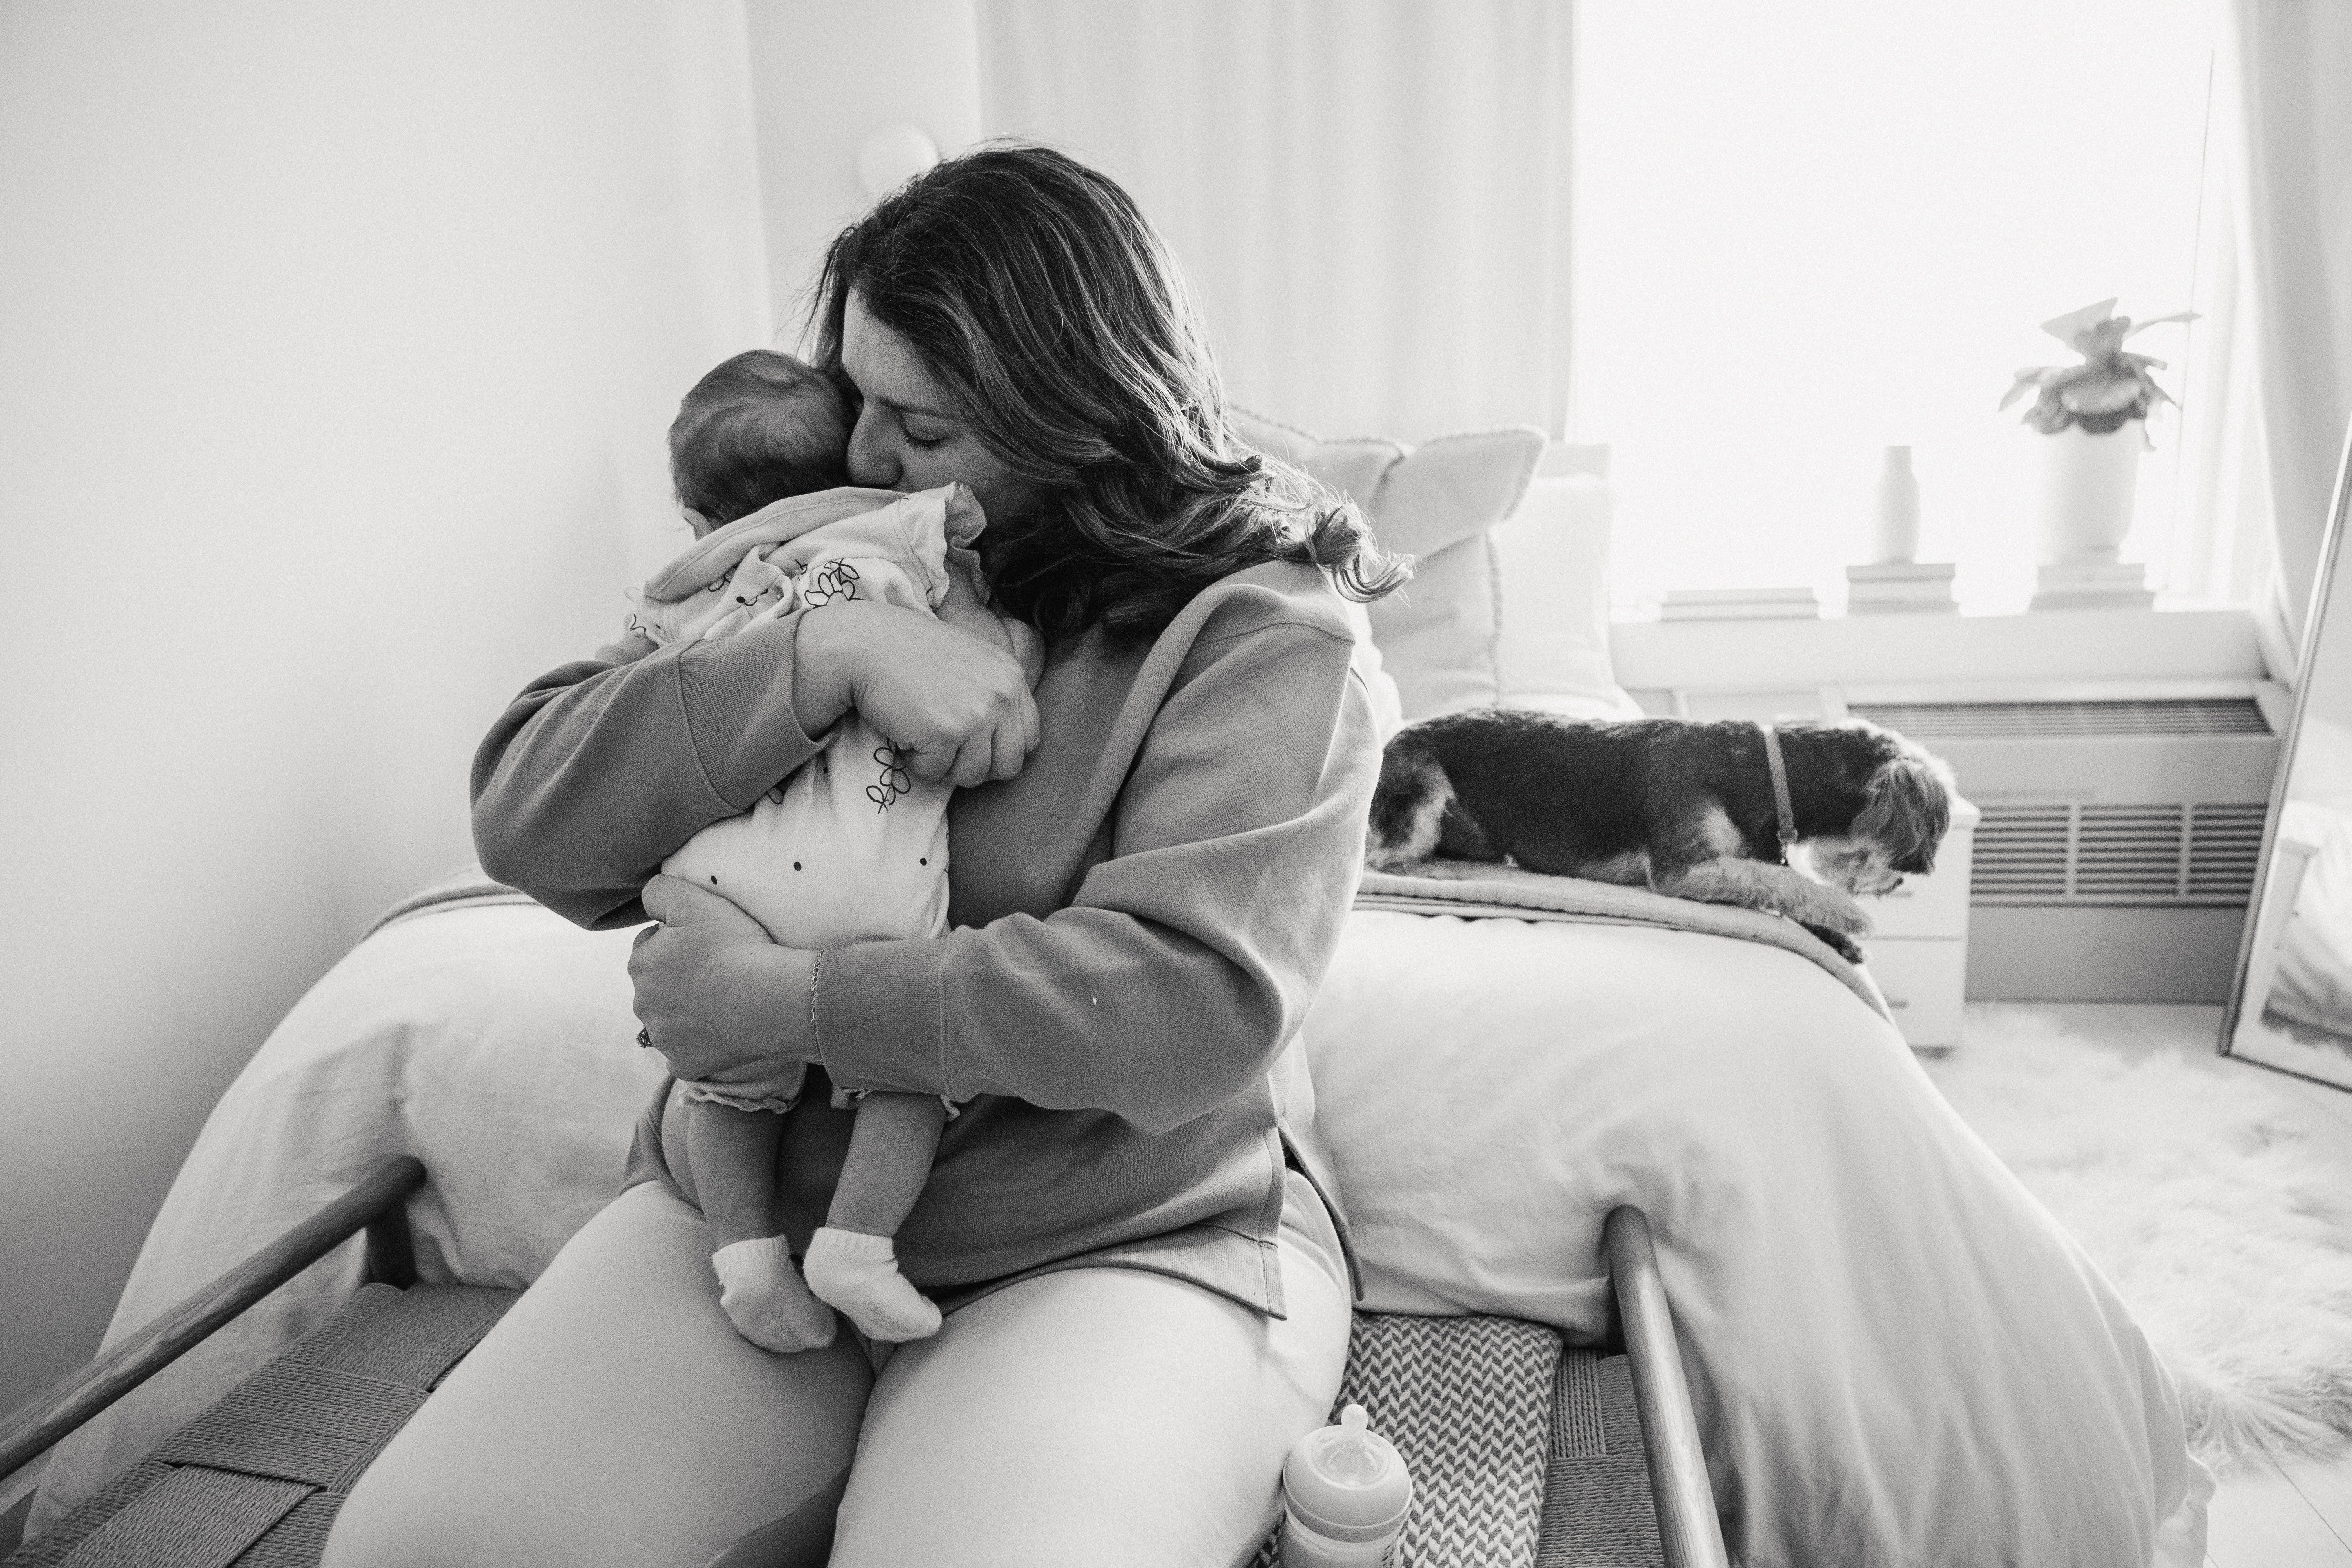
<svg viewBox="0 0 2352 1568"><path fill-rule="evenodd" d="M7 1568L313 1568L353 1481L513 1300L362 1288ZM1357 1314L1341 1403L1414 1472L1399 1568L1663 1563L1625 1356L1512 1319Z"/></svg>

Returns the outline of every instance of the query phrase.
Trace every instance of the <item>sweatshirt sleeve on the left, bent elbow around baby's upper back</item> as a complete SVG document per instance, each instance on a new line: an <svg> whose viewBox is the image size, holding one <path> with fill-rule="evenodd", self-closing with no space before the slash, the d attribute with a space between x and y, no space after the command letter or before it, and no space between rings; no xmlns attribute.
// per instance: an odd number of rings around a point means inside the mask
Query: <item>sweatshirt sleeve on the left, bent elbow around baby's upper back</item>
<svg viewBox="0 0 2352 1568"><path fill-rule="evenodd" d="M482 870L590 929L642 919L640 889L710 823L821 748L793 710L800 616L532 682L473 757Z"/></svg>

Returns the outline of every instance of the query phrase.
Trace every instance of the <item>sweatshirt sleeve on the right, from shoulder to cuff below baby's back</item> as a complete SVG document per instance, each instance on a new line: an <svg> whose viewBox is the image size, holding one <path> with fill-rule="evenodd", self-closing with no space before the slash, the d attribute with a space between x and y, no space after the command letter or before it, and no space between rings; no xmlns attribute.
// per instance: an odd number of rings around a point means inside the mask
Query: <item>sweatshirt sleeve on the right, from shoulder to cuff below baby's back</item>
<svg viewBox="0 0 2352 1568"><path fill-rule="evenodd" d="M1014 1095L1145 1131L1263 1079L1338 945L1381 750L1352 642L1202 642L1155 715L1110 858L1070 907L837 943L818 1046L849 1088Z"/></svg>

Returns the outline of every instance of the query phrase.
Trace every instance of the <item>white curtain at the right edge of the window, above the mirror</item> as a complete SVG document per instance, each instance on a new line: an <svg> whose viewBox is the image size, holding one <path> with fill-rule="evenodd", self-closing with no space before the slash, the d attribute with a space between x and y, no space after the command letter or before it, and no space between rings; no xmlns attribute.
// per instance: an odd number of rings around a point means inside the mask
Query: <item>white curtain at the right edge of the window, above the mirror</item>
<svg viewBox="0 0 2352 1568"><path fill-rule="evenodd" d="M2223 61L2237 176L2237 428L2267 489L2274 574L2258 609L2300 637L2352 418L2352 5L2232 0ZM2241 487L2244 489L2244 487Z"/></svg>

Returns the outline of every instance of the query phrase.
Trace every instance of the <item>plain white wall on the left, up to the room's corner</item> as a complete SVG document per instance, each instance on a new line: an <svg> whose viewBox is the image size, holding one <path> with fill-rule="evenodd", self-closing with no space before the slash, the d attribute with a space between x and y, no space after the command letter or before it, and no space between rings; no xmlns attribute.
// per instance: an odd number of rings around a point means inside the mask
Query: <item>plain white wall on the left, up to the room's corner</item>
<svg viewBox="0 0 2352 1568"><path fill-rule="evenodd" d="M741 0L0 5L0 1410L682 538L748 80Z"/></svg>

